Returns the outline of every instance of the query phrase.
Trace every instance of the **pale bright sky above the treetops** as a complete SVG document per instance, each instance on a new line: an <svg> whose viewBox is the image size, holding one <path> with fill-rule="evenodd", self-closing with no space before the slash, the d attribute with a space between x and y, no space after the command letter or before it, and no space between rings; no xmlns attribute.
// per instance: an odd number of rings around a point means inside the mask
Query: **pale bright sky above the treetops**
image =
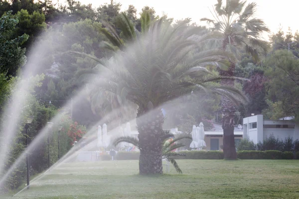
<svg viewBox="0 0 299 199"><path fill-rule="evenodd" d="M61 2L62 0L60 0ZM110 3L110 0L80 0L82 4L92 3L98 7L104 3ZM137 13L148 5L153 7L157 15L166 13L168 17L182 19L190 17L198 25L205 25L200 18L212 18L209 8L212 8L217 0L115 0L122 4L122 10L126 10L129 4L137 8ZM225 2L225 0L223 0ZM261 18L270 28L271 32L277 32L280 25L286 33L288 27L291 27L293 33L299 30L298 18L295 17L298 10L298 0L247 0L247 2L256 2L258 4L256 17ZM264 34L268 40L268 34Z"/></svg>

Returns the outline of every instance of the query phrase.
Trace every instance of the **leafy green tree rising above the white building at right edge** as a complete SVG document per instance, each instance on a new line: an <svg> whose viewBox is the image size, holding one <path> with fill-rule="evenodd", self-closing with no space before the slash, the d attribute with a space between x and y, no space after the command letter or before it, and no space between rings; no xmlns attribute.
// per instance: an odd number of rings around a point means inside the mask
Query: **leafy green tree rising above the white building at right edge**
<svg viewBox="0 0 299 199"><path fill-rule="evenodd" d="M270 107L268 117L299 118L299 60L287 50L275 51L267 61L265 72ZM271 114L269 114L271 113Z"/></svg>

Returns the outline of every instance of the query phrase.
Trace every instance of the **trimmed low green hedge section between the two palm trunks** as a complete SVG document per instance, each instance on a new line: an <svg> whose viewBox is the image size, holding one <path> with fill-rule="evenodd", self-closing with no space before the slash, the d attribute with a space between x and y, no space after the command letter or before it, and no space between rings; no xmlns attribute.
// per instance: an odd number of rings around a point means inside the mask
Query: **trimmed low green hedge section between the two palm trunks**
<svg viewBox="0 0 299 199"><path fill-rule="evenodd" d="M224 158L224 154L221 151L181 151L179 153L186 156L177 156L175 159L212 159L220 160Z"/></svg>

